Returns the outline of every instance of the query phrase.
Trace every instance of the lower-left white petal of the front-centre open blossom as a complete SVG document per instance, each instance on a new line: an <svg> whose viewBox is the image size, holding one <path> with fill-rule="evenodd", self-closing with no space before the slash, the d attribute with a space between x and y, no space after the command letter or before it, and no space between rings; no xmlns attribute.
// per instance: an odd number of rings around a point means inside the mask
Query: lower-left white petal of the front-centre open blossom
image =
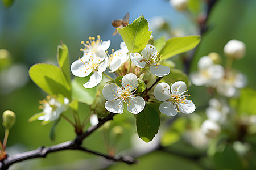
<svg viewBox="0 0 256 170"><path fill-rule="evenodd" d="M113 101L106 101L105 108L109 112L121 114L123 113L123 100L117 99Z"/></svg>

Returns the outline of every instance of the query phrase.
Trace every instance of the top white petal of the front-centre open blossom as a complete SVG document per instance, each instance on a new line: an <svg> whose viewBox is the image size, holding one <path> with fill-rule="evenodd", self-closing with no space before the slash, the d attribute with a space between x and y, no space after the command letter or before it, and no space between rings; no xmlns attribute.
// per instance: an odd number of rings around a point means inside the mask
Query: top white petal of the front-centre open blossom
<svg viewBox="0 0 256 170"><path fill-rule="evenodd" d="M127 89L129 88L130 92L138 87L137 76L133 73L126 74L122 78L122 86Z"/></svg>

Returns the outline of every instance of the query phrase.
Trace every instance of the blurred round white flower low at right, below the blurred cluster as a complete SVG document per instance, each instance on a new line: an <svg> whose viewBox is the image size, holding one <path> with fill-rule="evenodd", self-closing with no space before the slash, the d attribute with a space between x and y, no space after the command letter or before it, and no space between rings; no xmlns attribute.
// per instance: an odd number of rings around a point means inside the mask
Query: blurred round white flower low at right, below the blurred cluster
<svg viewBox="0 0 256 170"><path fill-rule="evenodd" d="M205 120L201 125L201 131L208 138L215 138L218 134L220 134L221 128L216 122L212 120Z"/></svg>

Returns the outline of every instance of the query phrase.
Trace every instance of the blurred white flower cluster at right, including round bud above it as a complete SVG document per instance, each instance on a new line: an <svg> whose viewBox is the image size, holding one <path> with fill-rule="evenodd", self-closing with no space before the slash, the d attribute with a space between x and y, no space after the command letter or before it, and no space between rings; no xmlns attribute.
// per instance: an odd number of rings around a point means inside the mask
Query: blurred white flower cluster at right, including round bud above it
<svg viewBox="0 0 256 170"><path fill-rule="evenodd" d="M190 74L193 84L216 88L217 92L226 97L238 96L239 89L247 84L247 78L240 71L231 68L234 59L240 59L245 55L245 44L238 40L230 40L224 46L226 66L219 64L220 56L210 53L203 56L197 63L198 71Z"/></svg>

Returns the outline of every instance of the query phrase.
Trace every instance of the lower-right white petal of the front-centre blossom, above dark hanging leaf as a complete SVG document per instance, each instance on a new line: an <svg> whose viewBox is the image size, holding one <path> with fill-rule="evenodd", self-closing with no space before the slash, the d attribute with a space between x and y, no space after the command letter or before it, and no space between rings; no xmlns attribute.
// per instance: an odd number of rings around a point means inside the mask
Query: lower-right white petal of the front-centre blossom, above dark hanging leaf
<svg viewBox="0 0 256 170"><path fill-rule="evenodd" d="M129 98L130 104L127 103L127 110L133 114L138 114L145 107L145 100L142 97Z"/></svg>

